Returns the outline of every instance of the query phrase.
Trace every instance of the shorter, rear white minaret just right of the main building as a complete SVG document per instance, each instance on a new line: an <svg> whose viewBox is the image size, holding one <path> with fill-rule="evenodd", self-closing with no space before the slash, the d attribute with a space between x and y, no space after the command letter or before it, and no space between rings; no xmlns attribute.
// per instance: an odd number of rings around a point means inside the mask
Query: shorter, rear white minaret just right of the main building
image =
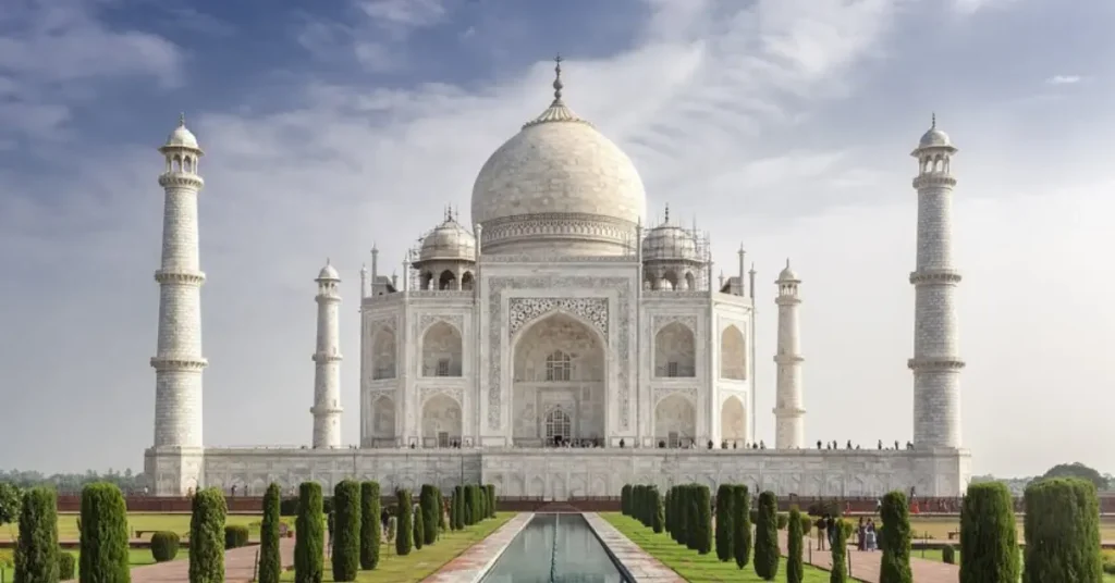
<svg viewBox="0 0 1115 583"><path fill-rule="evenodd" d="M802 299L797 286L802 280L794 270L786 269L778 274L778 353L774 361L778 365L777 406L775 416L775 448L802 449L805 447L805 409L802 408L802 341L797 323L797 307Z"/></svg>

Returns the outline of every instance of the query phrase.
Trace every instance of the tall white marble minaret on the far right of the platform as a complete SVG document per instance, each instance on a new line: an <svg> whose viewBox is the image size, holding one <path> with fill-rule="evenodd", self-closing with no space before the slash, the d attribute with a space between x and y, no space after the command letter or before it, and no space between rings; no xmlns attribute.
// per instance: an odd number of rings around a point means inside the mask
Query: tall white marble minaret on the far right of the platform
<svg viewBox="0 0 1115 583"><path fill-rule="evenodd" d="M951 158L957 148L933 124L911 156L918 158L918 266L914 286L913 443L924 448L960 447L960 359L957 285L952 266Z"/></svg>

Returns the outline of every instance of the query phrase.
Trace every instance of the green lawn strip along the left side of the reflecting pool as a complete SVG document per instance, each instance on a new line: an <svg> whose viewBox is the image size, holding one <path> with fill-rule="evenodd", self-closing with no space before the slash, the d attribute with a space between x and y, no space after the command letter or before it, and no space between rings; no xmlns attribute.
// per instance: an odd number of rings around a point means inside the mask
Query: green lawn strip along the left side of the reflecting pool
<svg viewBox="0 0 1115 583"><path fill-rule="evenodd" d="M395 554L395 543L384 541L380 547L379 565L375 571L361 571L357 583L416 583L434 574L443 565L453 561L466 548L483 541L487 535L515 517L515 513L498 513L495 518L488 518L464 531L449 531L440 538L420 551L411 551L407 556ZM293 569L284 571L282 581L294 581ZM333 574L326 560L326 572L322 583L331 583Z"/></svg>

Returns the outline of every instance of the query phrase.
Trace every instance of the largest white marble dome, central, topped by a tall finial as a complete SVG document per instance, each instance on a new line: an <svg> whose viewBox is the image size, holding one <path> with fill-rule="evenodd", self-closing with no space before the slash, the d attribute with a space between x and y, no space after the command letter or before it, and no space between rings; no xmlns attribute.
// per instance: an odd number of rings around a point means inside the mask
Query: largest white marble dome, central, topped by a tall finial
<svg viewBox="0 0 1115 583"><path fill-rule="evenodd" d="M473 222L484 253L633 253L647 208L631 158L560 97L481 168Z"/></svg>

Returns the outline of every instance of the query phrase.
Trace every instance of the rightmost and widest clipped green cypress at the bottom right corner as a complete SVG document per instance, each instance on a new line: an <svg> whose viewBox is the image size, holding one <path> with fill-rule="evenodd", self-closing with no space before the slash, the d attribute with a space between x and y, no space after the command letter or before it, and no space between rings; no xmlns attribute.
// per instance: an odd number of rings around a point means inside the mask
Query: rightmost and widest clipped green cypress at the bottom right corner
<svg viewBox="0 0 1115 583"><path fill-rule="evenodd" d="M1026 487L1025 504L1026 583L1103 579L1095 484L1079 478L1043 479ZM966 558L960 557L961 569Z"/></svg>

